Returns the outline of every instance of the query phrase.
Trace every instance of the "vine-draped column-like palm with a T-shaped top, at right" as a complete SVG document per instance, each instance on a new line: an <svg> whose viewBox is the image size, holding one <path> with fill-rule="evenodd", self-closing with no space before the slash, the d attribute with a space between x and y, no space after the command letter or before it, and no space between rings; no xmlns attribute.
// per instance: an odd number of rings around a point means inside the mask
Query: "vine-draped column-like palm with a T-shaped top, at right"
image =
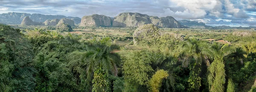
<svg viewBox="0 0 256 92"><path fill-rule="evenodd" d="M224 84L226 82L226 70L224 56L227 56L233 49L225 44L222 47L218 43L213 43L209 47L204 47L206 53L212 55L213 61L208 67L208 84L210 92L224 92Z"/></svg>

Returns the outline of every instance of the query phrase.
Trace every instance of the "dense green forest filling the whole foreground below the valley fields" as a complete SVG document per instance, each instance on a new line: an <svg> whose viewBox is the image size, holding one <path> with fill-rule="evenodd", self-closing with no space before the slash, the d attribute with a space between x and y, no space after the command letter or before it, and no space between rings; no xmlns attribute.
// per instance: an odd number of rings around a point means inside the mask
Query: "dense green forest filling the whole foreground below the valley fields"
<svg viewBox="0 0 256 92"><path fill-rule="evenodd" d="M148 24L133 34L143 49L118 53L110 37L0 24L0 92L239 92L255 79L254 36L219 44ZM250 87L256 92L256 81Z"/></svg>

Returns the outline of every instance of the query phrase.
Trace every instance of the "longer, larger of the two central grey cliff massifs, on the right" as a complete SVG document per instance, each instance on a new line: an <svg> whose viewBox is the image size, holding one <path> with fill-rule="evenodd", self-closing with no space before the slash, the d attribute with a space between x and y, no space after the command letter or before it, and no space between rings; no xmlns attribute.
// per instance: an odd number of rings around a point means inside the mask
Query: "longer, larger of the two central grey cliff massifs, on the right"
<svg viewBox="0 0 256 92"><path fill-rule="evenodd" d="M154 24L159 28L181 28L180 23L173 17L155 17L139 13L121 13L113 20L113 27L140 27Z"/></svg>

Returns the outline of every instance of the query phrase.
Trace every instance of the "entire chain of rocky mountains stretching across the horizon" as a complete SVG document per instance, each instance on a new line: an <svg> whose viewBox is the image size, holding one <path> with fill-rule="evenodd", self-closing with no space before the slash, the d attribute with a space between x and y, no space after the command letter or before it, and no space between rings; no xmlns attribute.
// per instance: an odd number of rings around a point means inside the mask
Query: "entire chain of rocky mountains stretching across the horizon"
<svg viewBox="0 0 256 92"><path fill-rule="evenodd" d="M29 25L56 25L57 20L65 19L68 20L71 26L73 20L79 27L95 26L95 27L139 27L144 24L154 24L159 28L209 28L209 29L251 29L256 27L230 27L230 26L209 26L203 22L189 21L189 20L175 20L171 16L167 17L156 17L148 16L146 14L125 12L120 13L116 17L108 17L105 15L93 14L91 16L79 17L66 17L63 15L44 15L44 14L28 14L28 13L17 13L9 12L7 14L0 14L0 23L3 24L24 24L21 23L24 18L32 21L25 21L25 24ZM39 22L39 23L38 23Z"/></svg>

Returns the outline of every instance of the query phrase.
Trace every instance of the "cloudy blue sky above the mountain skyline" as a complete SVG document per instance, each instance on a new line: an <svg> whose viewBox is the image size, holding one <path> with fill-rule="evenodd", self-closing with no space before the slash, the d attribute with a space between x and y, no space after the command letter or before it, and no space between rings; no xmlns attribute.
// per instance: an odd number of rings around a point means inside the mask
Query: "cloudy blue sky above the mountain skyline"
<svg viewBox="0 0 256 92"><path fill-rule="evenodd" d="M8 12L80 18L136 12L195 20L211 26L256 26L256 0L0 0L0 14Z"/></svg>

